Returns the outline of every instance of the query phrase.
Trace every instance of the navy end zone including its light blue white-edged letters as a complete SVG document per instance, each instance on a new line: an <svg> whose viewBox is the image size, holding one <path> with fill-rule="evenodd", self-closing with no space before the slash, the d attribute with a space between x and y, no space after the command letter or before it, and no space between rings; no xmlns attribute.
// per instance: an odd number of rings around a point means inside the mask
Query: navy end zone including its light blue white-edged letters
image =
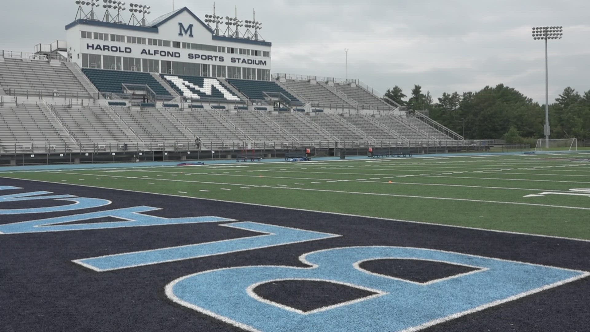
<svg viewBox="0 0 590 332"><path fill-rule="evenodd" d="M587 327L572 314L590 300L585 242L2 178L0 192L6 331Z"/></svg>

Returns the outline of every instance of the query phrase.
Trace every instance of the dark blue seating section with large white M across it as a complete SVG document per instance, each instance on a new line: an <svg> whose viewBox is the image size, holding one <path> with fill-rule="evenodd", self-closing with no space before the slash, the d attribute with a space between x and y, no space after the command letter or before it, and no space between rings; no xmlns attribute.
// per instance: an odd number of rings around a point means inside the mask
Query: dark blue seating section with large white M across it
<svg viewBox="0 0 590 332"><path fill-rule="evenodd" d="M240 102L228 87L212 77L162 74L162 78L187 99Z"/></svg>

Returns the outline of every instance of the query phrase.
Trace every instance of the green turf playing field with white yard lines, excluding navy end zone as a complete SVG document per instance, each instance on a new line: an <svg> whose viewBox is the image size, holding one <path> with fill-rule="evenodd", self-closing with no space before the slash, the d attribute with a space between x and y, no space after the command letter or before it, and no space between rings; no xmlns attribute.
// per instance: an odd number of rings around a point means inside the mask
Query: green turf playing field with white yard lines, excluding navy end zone
<svg viewBox="0 0 590 332"><path fill-rule="evenodd" d="M590 239L588 153L81 166L0 176Z"/></svg>

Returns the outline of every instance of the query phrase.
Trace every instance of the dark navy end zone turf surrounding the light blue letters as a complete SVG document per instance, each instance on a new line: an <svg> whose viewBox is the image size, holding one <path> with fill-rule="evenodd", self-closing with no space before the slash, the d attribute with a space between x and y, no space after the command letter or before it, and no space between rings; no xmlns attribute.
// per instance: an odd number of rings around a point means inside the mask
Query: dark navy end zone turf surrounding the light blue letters
<svg viewBox="0 0 590 332"><path fill-rule="evenodd" d="M590 271L590 243L576 240L7 178L0 178L0 185L24 188L11 190L11 194L46 190L113 201L106 209L147 205L163 209L146 213L155 216L212 215L342 235L277 248L100 273L71 261L248 237L252 233L205 223L0 235L0 331L241 331L173 304L166 298L164 287L181 276L210 269L245 265L303 267L298 259L303 253L342 246L440 249ZM17 208L37 207L43 203L0 204ZM55 203L48 201L46 204ZM0 216L0 224L68 214L71 213ZM590 326L589 290L590 279L585 278L424 331L587 331Z"/></svg>

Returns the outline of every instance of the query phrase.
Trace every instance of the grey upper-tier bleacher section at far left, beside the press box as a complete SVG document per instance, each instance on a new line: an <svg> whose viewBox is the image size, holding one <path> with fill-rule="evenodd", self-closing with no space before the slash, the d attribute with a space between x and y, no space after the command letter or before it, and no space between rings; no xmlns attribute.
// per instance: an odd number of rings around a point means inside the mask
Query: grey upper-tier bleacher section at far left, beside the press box
<svg viewBox="0 0 590 332"><path fill-rule="evenodd" d="M60 96L90 97L84 86L65 64L49 64L48 61L5 58L0 62L0 86L11 95L35 95L42 92L44 96L53 96L54 91Z"/></svg>

